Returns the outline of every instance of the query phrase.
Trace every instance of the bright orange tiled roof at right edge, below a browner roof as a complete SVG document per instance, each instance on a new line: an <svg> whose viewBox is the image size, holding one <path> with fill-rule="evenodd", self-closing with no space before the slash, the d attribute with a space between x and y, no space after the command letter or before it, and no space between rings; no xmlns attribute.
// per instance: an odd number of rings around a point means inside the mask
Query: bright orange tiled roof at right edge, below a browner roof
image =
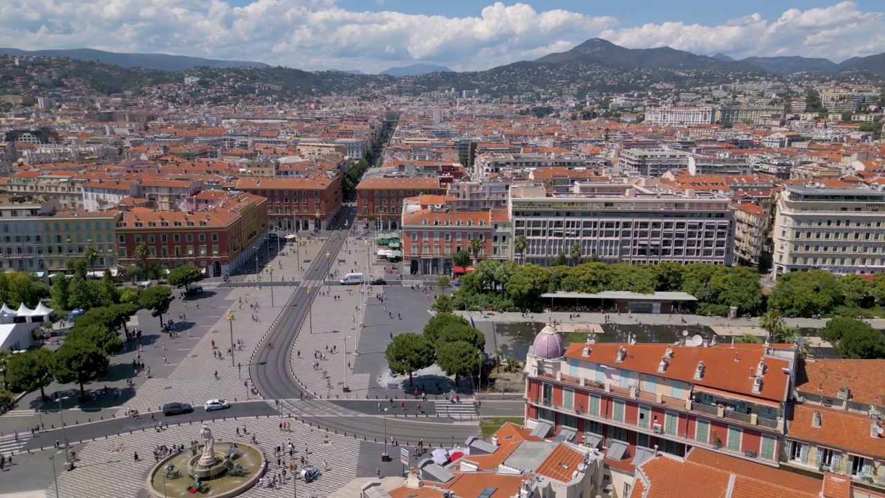
<svg viewBox="0 0 885 498"><path fill-rule="evenodd" d="M820 427L812 426L814 412L820 411ZM797 404L787 428L787 437L834 449L885 458L885 439L870 436L869 416L820 405Z"/></svg>

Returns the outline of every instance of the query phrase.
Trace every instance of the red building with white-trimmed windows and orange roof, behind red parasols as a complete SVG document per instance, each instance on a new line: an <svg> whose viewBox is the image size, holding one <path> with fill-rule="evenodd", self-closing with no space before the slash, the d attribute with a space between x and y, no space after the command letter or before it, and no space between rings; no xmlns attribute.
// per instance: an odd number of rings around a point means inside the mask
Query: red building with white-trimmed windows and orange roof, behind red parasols
<svg viewBox="0 0 885 498"><path fill-rule="evenodd" d="M440 198L443 196L420 196L402 203L403 258L413 274L450 275L452 256L458 251L470 252L473 238L483 241L479 259L492 253L496 231L492 211L452 211L437 203Z"/></svg>

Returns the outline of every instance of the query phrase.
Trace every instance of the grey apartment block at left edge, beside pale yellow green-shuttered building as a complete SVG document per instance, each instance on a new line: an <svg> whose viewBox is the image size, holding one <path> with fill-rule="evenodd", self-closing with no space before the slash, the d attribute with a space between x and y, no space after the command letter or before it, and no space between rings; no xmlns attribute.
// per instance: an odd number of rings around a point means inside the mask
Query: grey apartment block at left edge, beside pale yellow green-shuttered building
<svg viewBox="0 0 885 498"><path fill-rule="evenodd" d="M44 270L42 221L59 207L55 198L0 197L0 268Z"/></svg>

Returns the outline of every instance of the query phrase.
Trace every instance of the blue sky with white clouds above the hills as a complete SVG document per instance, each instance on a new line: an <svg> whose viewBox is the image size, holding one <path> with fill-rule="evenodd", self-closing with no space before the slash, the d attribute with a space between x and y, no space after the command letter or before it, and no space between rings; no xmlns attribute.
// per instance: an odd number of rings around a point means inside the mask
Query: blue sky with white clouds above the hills
<svg viewBox="0 0 885 498"><path fill-rule="evenodd" d="M2 0L0 46L377 73L483 70L600 37L734 58L885 52L882 0Z"/></svg>

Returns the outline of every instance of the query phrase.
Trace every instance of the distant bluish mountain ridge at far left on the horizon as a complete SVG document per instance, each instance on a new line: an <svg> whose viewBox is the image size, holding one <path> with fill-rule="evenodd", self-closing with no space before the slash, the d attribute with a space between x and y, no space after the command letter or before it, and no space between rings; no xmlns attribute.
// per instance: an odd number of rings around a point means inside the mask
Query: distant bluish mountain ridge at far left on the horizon
<svg viewBox="0 0 885 498"><path fill-rule="evenodd" d="M263 62L243 60L218 60L214 58L198 58L183 55L162 53L119 53L96 51L95 49L70 49L56 51L22 51L19 49L0 49L0 55L12 57L66 57L78 60L97 60L105 64L122 67L145 67L163 71L186 71L198 66L215 69L230 67L269 67Z"/></svg>

